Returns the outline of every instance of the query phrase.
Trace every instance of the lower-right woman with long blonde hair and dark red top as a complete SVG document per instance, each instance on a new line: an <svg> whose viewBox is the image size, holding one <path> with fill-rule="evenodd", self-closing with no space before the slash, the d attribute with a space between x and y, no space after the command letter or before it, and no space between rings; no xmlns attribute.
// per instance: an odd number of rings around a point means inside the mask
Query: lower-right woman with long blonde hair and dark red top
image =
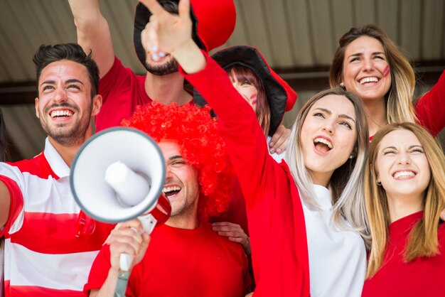
<svg viewBox="0 0 445 297"><path fill-rule="evenodd" d="M445 157L421 126L375 134L365 168L372 246L363 296L444 296Z"/></svg>

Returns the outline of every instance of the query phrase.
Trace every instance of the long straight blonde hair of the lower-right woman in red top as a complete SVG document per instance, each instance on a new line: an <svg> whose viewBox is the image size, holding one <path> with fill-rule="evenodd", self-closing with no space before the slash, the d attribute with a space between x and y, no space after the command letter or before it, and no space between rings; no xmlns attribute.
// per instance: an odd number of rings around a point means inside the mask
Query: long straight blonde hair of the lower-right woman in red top
<svg viewBox="0 0 445 297"><path fill-rule="evenodd" d="M370 278L382 266L390 225L390 212L385 189L377 185L377 156L379 144L385 135L395 130L412 131L419 139L429 163L431 178L424 193L424 218L419 220L409 233L407 247L404 249L404 261L417 257L432 257L439 253L437 228L440 212L445 208L445 157L439 144L425 129L408 122L389 124L375 134L370 146L370 153L365 168L366 208L372 235L371 252L366 276Z"/></svg>

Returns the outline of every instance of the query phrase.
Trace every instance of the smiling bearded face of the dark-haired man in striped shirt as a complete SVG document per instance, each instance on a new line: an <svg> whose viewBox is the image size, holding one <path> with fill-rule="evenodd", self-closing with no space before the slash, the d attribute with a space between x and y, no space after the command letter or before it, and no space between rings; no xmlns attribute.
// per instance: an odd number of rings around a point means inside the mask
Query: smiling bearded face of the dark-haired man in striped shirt
<svg viewBox="0 0 445 297"><path fill-rule="evenodd" d="M70 60L50 63L38 81L36 116L50 140L63 146L82 144L92 133L92 117L100 112L100 95L91 98L85 66Z"/></svg>

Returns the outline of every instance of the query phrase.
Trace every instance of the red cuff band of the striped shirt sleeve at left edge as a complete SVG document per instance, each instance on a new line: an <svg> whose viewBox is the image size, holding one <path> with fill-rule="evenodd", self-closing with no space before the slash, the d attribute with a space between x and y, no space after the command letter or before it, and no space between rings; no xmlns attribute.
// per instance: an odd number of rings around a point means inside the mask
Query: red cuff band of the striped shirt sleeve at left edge
<svg viewBox="0 0 445 297"><path fill-rule="evenodd" d="M9 195L11 196L8 220L6 221L4 228L0 229L0 237L8 237L6 234L9 234L11 225L16 221L20 212L23 211L23 195L15 180L12 180L5 175L0 175L0 181L6 185L6 188L9 190Z"/></svg>

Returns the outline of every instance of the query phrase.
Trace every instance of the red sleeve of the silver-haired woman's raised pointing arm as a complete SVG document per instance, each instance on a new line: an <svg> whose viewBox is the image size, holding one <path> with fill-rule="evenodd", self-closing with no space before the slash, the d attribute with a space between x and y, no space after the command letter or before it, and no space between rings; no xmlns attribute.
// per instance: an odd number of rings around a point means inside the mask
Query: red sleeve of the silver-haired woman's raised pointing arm
<svg viewBox="0 0 445 297"><path fill-rule="evenodd" d="M270 174L274 174L275 161L269 156L266 138L252 107L232 86L225 70L203 54L207 59L205 69L192 75L181 68L180 72L217 114L220 134L250 207L257 202L256 198L264 196L264 187L273 183Z"/></svg>

